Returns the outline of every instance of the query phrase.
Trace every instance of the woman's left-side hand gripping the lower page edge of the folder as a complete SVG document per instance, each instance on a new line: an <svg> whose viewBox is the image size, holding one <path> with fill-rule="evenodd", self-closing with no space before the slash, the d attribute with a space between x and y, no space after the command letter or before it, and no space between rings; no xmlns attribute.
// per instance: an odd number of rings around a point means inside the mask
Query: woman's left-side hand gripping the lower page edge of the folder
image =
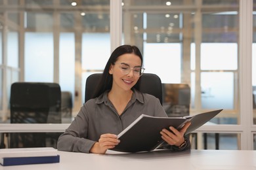
<svg viewBox="0 0 256 170"><path fill-rule="evenodd" d="M90 152L95 154L105 154L106 150L110 148L114 148L117 144L119 144L119 139L117 139L117 135L106 133L100 135L100 139L98 142L93 144Z"/></svg>

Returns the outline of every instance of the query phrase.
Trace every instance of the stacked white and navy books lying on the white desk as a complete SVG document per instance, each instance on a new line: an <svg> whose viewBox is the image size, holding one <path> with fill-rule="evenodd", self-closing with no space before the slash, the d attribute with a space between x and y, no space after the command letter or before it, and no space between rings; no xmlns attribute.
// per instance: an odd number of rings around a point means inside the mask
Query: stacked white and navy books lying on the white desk
<svg viewBox="0 0 256 170"><path fill-rule="evenodd" d="M0 164L3 166L58 162L60 156L57 150L51 147L0 149Z"/></svg>

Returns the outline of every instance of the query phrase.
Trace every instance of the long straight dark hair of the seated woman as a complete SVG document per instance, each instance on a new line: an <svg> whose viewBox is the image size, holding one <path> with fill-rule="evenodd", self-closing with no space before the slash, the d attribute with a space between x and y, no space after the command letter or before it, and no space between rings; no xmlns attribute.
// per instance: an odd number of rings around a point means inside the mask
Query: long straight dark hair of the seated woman
<svg viewBox="0 0 256 170"><path fill-rule="evenodd" d="M98 97L100 94L104 93L106 90L110 90L112 88L112 82L113 82L113 76L110 75L110 65L114 64L117 61L117 58L123 54L135 54L136 56L139 56L141 60L141 66L142 66L142 54L140 53L140 50L137 46L131 46L131 45L122 45L116 48L114 52L112 52L110 58L108 59L108 62L106 63L106 67L102 73L102 77L100 79L100 82L96 88L95 94L93 95L93 98Z"/></svg>

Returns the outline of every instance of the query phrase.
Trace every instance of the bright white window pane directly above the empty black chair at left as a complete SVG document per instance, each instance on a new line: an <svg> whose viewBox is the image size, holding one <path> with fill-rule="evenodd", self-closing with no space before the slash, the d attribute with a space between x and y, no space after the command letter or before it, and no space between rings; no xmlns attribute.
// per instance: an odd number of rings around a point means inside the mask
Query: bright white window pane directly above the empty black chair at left
<svg viewBox="0 0 256 170"><path fill-rule="evenodd" d="M24 80L53 82L53 33L25 33L24 53Z"/></svg>

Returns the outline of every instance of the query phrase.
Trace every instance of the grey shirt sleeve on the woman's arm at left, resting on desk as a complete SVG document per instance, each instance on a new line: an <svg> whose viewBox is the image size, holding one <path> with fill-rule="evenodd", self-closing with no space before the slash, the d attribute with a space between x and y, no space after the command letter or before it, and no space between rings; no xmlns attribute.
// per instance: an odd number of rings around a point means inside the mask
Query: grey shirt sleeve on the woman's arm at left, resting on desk
<svg viewBox="0 0 256 170"><path fill-rule="evenodd" d="M88 118L87 104L79 110L75 120L58 138L57 148L62 151L89 153L95 141L87 139Z"/></svg>

